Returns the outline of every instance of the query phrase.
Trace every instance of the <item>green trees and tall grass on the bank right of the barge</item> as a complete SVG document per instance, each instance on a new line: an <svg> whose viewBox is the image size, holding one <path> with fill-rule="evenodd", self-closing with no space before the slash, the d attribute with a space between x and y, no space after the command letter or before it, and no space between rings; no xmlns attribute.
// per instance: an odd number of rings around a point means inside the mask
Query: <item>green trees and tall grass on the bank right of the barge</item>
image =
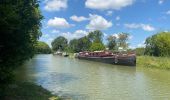
<svg viewBox="0 0 170 100"><path fill-rule="evenodd" d="M145 44L145 48L135 49L138 66L170 69L170 32L157 33L147 38Z"/></svg>

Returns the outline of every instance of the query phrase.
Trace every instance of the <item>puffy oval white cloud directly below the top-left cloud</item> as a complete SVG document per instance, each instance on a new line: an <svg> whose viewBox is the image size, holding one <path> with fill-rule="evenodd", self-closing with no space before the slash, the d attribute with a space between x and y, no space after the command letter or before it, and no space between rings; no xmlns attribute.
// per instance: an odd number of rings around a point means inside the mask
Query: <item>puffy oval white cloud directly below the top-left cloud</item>
<svg viewBox="0 0 170 100"><path fill-rule="evenodd" d="M72 26L64 18L59 17L54 17L54 19L50 19L47 25L54 28L68 28Z"/></svg>

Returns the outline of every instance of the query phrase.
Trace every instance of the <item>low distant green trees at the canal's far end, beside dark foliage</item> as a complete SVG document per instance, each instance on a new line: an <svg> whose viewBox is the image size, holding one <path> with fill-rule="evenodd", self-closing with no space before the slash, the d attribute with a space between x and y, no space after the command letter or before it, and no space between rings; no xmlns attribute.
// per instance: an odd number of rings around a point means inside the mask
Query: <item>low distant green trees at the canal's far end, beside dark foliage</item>
<svg viewBox="0 0 170 100"><path fill-rule="evenodd" d="M51 48L45 42L38 41L35 50L37 54L50 54Z"/></svg>

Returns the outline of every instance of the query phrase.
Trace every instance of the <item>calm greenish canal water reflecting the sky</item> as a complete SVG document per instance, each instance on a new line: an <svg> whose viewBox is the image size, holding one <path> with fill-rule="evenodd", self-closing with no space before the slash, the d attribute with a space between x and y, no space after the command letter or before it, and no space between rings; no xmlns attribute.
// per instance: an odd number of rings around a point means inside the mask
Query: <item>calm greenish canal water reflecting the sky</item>
<svg viewBox="0 0 170 100"><path fill-rule="evenodd" d="M170 100L170 71L36 55L18 78L71 100Z"/></svg>

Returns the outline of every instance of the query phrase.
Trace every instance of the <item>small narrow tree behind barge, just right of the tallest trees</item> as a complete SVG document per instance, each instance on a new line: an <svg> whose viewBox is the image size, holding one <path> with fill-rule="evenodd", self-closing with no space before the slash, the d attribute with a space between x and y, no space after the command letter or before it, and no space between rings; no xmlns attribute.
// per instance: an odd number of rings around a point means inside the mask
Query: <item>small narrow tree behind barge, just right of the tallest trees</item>
<svg viewBox="0 0 170 100"><path fill-rule="evenodd" d="M115 36L110 35L108 38L108 48L109 50L116 50L116 46L117 46L117 38Z"/></svg>

